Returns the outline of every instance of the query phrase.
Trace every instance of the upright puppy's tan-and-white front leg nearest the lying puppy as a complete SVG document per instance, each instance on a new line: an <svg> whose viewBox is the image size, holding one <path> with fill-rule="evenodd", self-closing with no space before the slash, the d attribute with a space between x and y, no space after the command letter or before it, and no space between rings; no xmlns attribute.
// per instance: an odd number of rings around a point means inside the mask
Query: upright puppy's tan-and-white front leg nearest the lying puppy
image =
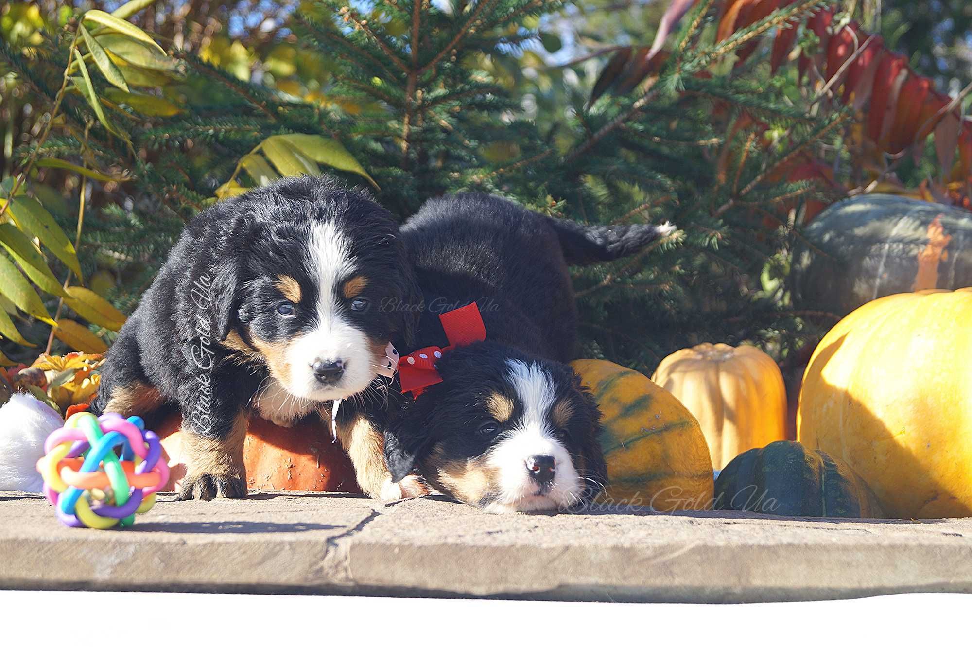
<svg viewBox="0 0 972 647"><path fill-rule="evenodd" d="M414 475L392 483L385 463L384 435L364 416L339 425L337 438L355 466L358 485L364 494L389 500L429 494L429 489Z"/></svg>

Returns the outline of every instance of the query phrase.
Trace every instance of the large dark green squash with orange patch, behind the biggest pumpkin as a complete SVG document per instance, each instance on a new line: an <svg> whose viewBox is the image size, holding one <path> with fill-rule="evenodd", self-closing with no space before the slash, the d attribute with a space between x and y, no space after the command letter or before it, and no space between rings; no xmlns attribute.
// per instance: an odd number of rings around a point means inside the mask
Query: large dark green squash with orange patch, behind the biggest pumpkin
<svg viewBox="0 0 972 647"><path fill-rule="evenodd" d="M972 286L972 212L898 195L834 203L803 230L789 280L799 309L842 317L887 294Z"/></svg>

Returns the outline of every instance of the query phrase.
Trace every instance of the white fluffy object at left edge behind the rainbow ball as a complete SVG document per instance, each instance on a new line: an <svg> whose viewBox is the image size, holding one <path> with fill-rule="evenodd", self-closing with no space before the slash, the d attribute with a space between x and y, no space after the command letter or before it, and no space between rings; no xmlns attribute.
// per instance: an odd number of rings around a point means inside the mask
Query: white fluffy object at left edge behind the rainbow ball
<svg viewBox="0 0 972 647"><path fill-rule="evenodd" d="M33 395L14 393L0 407L0 490L41 492L37 461L44 441L64 421Z"/></svg>

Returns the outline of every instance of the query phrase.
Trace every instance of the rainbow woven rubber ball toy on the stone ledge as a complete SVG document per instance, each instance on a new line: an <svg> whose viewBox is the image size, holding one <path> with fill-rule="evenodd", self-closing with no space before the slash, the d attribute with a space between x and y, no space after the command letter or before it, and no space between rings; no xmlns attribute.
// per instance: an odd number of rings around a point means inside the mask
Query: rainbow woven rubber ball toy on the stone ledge
<svg viewBox="0 0 972 647"><path fill-rule="evenodd" d="M138 416L76 413L52 431L44 452L44 494L73 528L131 526L169 480L158 436Z"/></svg>

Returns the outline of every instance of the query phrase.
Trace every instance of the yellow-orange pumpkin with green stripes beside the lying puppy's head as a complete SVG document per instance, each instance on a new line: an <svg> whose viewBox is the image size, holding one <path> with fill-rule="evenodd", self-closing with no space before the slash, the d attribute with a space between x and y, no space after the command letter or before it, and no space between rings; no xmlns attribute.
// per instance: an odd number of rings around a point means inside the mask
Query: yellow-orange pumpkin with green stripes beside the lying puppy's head
<svg viewBox="0 0 972 647"><path fill-rule="evenodd" d="M712 507L712 461L698 421L672 393L603 359L571 363L602 413L602 501L662 512Z"/></svg>

